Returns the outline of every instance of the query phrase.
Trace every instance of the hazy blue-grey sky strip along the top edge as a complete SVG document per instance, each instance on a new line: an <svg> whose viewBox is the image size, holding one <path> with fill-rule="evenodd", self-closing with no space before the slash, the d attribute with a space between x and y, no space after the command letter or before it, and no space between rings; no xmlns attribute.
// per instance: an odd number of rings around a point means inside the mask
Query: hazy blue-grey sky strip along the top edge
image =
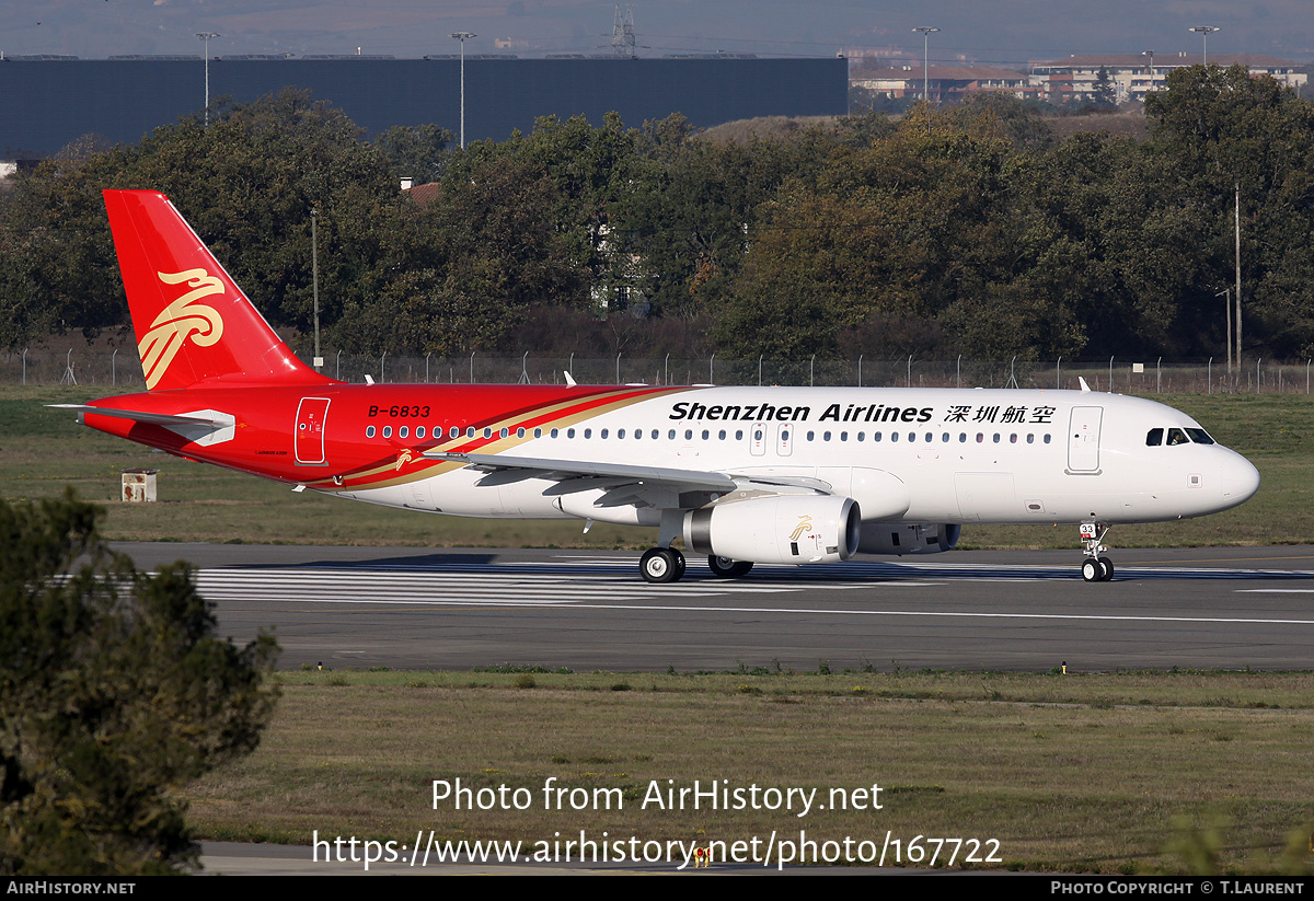
<svg viewBox="0 0 1314 901"><path fill-rule="evenodd" d="M1201 51L1314 60L1309 0L646 0L633 9L636 53L833 56L895 50L932 63L1025 67L1070 54ZM615 3L595 0L0 0L0 53L102 59L122 54L452 54L520 56L611 51ZM505 42L498 47L495 42Z"/></svg>

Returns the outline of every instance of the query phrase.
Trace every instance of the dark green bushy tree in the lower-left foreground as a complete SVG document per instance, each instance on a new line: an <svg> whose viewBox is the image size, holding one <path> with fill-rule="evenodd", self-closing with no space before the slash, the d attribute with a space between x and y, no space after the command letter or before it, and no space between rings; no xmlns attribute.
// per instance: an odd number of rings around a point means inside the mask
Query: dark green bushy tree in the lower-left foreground
<svg viewBox="0 0 1314 901"><path fill-rule="evenodd" d="M188 566L137 571L100 514L0 502L0 873L196 867L176 792L273 708L273 638L215 638Z"/></svg>

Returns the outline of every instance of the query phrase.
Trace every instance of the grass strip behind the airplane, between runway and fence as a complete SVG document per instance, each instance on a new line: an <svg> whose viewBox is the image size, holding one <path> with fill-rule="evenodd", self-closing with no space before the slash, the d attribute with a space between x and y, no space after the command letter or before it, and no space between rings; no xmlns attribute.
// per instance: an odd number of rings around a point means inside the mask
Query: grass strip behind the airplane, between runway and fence
<svg viewBox="0 0 1314 901"><path fill-rule="evenodd" d="M346 545L629 548L652 531L599 523L480 520L344 506L285 485L152 452L78 426L45 403L78 403L95 389L0 387L0 495L53 496L72 485L106 503L105 533L127 541L247 541ZM1303 544L1314 535L1314 399L1305 395L1160 395L1259 468L1259 494L1236 510L1176 523L1122 525L1117 548ZM160 470L156 504L118 502L120 470ZM972 525L961 546L1074 548L1071 527Z"/></svg>

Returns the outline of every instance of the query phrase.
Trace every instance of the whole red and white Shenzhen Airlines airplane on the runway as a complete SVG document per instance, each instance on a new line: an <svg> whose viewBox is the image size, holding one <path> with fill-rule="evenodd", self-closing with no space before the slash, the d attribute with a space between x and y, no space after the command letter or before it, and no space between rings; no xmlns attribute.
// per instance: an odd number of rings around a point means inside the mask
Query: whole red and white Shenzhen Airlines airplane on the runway
<svg viewBox="0 0 1314 901"><path fill-rule="evenodd" d="M81 423L294 491L456 516L653 527L653 583L954 548L963 525L1108 529L1243 503L1257 470L1185 414L1081 390L347 384L301 363L167 197L105 190L146 393ZM587 528L587 525L586 525Z"/></svg>

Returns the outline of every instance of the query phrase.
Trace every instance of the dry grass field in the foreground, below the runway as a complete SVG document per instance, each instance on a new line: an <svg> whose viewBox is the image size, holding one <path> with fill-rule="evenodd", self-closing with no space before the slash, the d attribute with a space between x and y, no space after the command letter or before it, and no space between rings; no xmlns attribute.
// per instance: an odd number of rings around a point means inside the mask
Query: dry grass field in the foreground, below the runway
<svg viewBox="0 0 1314 901"><path fill-rule="evenodd" d="M260 749L189 792L213 838L996 838L1060 872L1309 872L1310 674L292 672ZM616 684L629 691L615 691ZM547 779L623 809L549 810ZM432 780L527 788L432 804ZM880 810L643 809L650 785L853 791ZM668 783L668 780L674 780ZM1217 858L1201 862L1213 842Z"/></svg>

